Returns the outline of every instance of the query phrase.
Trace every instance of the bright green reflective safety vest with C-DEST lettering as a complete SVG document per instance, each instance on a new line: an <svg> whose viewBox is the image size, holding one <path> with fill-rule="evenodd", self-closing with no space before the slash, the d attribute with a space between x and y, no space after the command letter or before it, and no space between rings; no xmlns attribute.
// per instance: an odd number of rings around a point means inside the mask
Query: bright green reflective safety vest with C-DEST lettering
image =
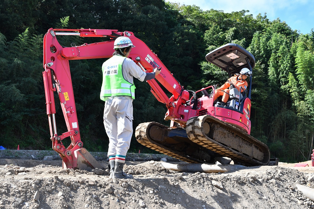
<svg viewBox="0 0 314 209"><path fill-rule="evenodd" d="M130 96L135 99L135 85L126 81L122 74L122 63L126 57L112 56L102 65L102 86L100 99L105 97Z"/></svg>

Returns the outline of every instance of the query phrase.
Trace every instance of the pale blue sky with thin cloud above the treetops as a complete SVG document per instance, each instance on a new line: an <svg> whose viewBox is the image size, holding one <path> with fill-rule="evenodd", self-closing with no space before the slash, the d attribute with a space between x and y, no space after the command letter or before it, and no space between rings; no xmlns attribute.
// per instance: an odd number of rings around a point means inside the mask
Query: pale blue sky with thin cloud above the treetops
<svg viewBox="0 0 314 209"><path fill-rule="evenodd" d="M293 30L307 34L314 28L313 0L165 0L185 5L200 7L202 10L211 8L224 10L225 13L249 10L255 18L258 13L266 13L269 20L280 18Z"/></svg>

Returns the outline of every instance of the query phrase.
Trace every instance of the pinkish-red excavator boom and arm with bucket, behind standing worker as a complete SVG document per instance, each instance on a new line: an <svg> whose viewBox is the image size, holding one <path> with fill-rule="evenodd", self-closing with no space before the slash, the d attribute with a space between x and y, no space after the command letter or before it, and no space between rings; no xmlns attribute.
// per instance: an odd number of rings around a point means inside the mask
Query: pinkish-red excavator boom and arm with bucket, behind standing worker
<svg viewBox="0 0 314 209"><path fill-rule="evenodd" d="M81 46L63 47L57 41L58 35L107 37L110 40L92 44L85 43ZM189 93L183 89L157 55L143 41L136 38L132 32L118 32L117 30L105 29L51 28L43 40L43 67L45 69L43 79L52 148L61 156L63 168L86 170L102 168L89 152L83 148L75 108L69 60L109 58L114 52L114 39L119 36L129 37L133 45L136 46L132 49L129 58L136 62L143 71L153 72L155 67L162 68L161 73L156 76L156 79L172 94L170 98L168 98L155 79L147 82L151 86L151 92L157 100L164 103L168 109L165 120L182 119L182 115L178 114L179 111L177 108L189 99ZM62 134L57 133L55 92L59 96L61 109L68 129L67 132ZM67 137L71 139L71 144L65 147L62 140Z"/></svg>

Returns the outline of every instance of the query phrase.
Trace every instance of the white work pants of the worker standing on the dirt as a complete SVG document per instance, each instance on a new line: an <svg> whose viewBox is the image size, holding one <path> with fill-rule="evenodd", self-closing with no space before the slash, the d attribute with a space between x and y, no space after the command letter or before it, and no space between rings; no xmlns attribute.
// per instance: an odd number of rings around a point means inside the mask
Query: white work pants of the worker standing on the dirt
<svg viewBox="0 0 314 209"><path fill-rule="evenodd" d="M127 154L133 134L133 105L129 96L110 97L105 102L104 126L109 137L108 157Z"/></svg>

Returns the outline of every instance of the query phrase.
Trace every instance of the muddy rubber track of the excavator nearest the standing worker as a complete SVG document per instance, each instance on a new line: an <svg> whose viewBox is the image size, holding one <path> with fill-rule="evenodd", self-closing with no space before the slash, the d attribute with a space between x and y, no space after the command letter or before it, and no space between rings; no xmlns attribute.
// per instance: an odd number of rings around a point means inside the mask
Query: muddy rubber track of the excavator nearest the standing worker
<svg viewBox="0 0 314 209"><path fill-rule="evenodd" d="M157 152L163 153L165 155L182 160L187 163L204 163L203 161L191 158L187 155L182 155L181 153L176 152L175 150L172 150L155 141L152 141L149 138L147 131L149 130L149 127L153 125L159 126L161 128L169 128L157 122L141 123L136 127L136 130L135 130L135 137L139 143L141 143L145 147L149 147L153 150L156 150Z"/></svg>

